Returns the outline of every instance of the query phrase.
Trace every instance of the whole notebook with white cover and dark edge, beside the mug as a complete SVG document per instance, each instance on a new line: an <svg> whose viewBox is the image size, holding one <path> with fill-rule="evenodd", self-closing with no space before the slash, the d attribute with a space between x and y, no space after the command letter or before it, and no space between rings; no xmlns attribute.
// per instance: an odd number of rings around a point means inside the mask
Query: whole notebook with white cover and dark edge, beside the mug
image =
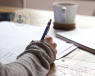
<svg viewBox="0 0 95 76"><path fill-rule="evenodd" d="M56 37L73 43L81 49L95 54L95 28L75 29L56 33Z"/></svg>

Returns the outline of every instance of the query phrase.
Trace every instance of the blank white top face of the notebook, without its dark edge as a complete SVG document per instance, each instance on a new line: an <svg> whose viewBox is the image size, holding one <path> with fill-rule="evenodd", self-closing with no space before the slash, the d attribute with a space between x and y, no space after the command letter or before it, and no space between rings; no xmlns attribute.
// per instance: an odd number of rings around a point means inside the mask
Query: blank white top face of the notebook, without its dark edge
<svg viewBox="0 0 95 76"><path fill-rule="evenodd" d="M57 32L58 35L67 38L77 44L95 49L95 28L75 29L68 32ZM82 47L81 47L82 48Z"/></svg>

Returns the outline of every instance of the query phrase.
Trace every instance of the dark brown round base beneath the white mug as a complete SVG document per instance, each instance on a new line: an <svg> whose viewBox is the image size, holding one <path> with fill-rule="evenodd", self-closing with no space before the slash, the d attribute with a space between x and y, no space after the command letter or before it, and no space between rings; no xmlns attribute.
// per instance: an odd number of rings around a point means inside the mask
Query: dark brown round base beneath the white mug
<svg viewBox="0 0 95 76"><path fill-rule="evenodd" d="M60 23L55 23L54 22L54 29L59 29L59 30L72 30L75 29L75 23L74 24L60 24Z"/></svg>

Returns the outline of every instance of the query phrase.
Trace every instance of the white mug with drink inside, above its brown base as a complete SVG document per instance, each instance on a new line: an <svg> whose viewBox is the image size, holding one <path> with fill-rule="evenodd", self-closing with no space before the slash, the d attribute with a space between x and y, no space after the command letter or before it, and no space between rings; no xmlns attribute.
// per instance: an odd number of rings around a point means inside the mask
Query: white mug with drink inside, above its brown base
<svg viewBox="0 0 95 76"><path fill-rule="evenodd" d="M73 24L78 4L72 2L54 2L54 19L55 23Z"/></svg>

